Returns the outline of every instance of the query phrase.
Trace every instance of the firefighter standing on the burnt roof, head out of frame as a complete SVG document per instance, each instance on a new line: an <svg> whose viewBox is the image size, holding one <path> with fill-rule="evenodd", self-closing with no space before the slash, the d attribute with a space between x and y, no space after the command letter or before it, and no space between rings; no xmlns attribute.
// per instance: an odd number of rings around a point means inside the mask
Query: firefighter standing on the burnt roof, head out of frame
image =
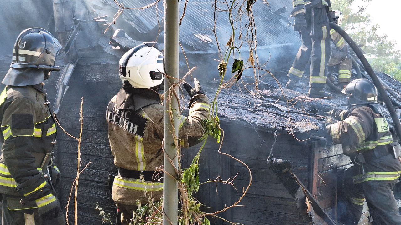
<svg viewBox="0 0 401 225"><path fill-rule="evenodd" d="M334 21L330 0L293 0L295 17L294 31L299 31L302 45L288 71L286 87L294 89L302 78L310 60L308 96L313 98L331 97L324 91L327 79L327 62L331 54L330 22Z"/></svg>

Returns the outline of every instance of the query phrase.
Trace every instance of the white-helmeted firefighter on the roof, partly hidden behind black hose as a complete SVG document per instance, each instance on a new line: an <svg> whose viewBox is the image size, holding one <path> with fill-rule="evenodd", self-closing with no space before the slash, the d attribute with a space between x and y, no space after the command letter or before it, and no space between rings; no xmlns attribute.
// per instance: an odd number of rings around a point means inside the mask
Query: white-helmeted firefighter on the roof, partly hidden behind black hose
<svg viewBox="0 0 401 225"><path fill-rule="evenodd" d="M343 17L342 12L334 10L334 15L334 22L340 25ZM348 54L347 45L340 34L334 29L331 29L330 36L334 46L332 46L328 65L338 66L338 87L344 89L344 87L351 82L352 56Z"/></svg>

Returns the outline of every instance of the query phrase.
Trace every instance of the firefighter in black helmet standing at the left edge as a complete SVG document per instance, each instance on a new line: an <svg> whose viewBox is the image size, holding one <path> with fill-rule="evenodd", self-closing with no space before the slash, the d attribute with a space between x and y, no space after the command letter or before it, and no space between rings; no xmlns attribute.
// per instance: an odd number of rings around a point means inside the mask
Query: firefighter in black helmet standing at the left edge
<svg viewBox="0 0 401 225"><path fill-rule="evenodd" d="M52 160L56 123L43 88L61 49L42 28L21 32L0 95L2 225L64 225L54 185L60 172ZM38 66L42 69L38 69Z"/></svg>

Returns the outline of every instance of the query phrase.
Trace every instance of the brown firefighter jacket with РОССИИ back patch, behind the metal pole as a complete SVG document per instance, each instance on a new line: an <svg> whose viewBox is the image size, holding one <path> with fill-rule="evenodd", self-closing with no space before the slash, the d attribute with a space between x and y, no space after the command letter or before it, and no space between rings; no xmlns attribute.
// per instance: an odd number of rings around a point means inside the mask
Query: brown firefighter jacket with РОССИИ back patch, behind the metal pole
<svg viewBox="0 0 401 225"><path fill-rule="evenodd" d="M164 106L160 104L158 94L152 98L148 94L138 95L132 100L133 96L122 88L107 106L111 153L117 167L132 171L156 171L163 165ZM184 147L201 141L205 134L202 121L209 114L206 95L196 94L191 102L189 116L180 116L178 138ZM162 196L162 190L162 182L117 176L113 182L112 198L116 203L136 205L137 199L142 203L148 202L145 191L152 192L157 201Z"/></svg>

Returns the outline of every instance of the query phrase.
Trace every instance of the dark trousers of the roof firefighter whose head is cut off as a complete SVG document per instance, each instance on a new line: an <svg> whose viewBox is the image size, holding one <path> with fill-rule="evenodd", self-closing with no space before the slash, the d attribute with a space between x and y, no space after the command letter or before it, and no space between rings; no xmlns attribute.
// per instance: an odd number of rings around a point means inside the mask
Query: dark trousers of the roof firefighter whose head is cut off
<svg viewBox="0 0 401 225"><path fill-rule="evenodd" d="M309 86L324 88L327 79L327 63L331 54L330 27L326 7L307 8L305 17L307 27L300 31L302 45L287 76L290 80L298 82L310 60Z"/></svg>

